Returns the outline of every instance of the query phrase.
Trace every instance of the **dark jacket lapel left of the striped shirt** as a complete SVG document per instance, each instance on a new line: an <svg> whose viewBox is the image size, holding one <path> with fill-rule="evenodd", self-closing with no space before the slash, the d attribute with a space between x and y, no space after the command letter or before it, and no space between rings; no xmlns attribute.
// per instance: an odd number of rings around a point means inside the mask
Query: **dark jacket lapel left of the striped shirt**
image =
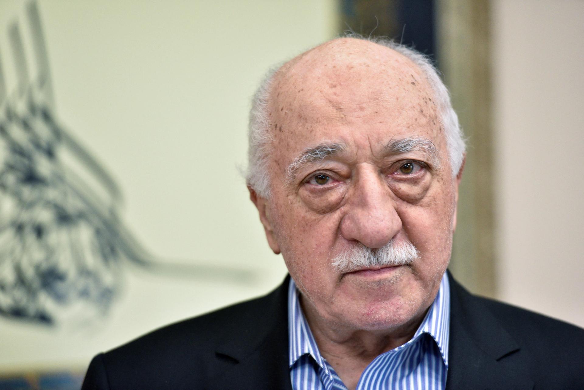
<svg viewBox="0 0 584 390"><path fill-rule="evenodd" d="M224 338L215 356L219 364L213 388L292 390L288 369L289 280L286 277L237 323L243 333Z"/></svg>

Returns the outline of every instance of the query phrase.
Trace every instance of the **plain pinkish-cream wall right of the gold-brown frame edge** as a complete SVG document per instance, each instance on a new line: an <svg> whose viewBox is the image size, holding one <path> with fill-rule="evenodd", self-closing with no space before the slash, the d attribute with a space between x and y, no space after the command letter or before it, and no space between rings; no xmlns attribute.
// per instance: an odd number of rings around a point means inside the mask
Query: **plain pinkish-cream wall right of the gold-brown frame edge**
<svg viewBox="0 0 584 390"><path fill-rule="evenodd" d="M492 4L499 297L584 326L584 2Z"/></svg>

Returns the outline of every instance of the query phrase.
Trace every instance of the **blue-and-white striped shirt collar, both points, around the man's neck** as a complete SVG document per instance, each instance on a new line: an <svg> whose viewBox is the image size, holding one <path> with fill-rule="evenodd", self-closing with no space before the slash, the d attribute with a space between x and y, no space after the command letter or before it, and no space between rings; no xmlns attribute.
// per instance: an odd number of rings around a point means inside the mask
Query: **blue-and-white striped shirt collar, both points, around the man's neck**
<svg viewBox="0 0 584 390"><path fill-rule="evenodd" d="M288 286L288 353L290 367L296 363L298 358L305 354L310 354L316 363L328 372L326 364L324 364L317 343L312 336L310 326L304 317L304 312L300 307L300 300L298 299L299 291L296 288L293 278L290 278L290 285ZM420 324L418 330L409 342L410 344L416 342L420 337L427 333L436 342L444 365L448 367L448 340L450 336L450 284L446 273L442 276L440 281L440 288L434 302L430 305L430 309L426 313L425 318ZM401 349L406 346L399 346Z"/></svg>

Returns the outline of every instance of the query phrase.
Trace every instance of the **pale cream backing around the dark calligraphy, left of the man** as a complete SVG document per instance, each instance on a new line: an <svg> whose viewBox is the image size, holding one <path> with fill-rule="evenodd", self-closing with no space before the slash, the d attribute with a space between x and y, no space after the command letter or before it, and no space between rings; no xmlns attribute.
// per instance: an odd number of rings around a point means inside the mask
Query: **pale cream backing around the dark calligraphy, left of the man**
<svg viewBox="0 0 584 390"><path fill-rule="evenodd" d="M23 19L24 4L0 2L6 68L7 22ZM58 113L116 177L128 227L157 255L246 267L257 280L128 272L111 315L93 326L0 318L0 371L84 369L99 351L280 283L286 269L236 169L246 158L249 100L269 65L336 34L335 7L335 0L40 0Z"/></svg>

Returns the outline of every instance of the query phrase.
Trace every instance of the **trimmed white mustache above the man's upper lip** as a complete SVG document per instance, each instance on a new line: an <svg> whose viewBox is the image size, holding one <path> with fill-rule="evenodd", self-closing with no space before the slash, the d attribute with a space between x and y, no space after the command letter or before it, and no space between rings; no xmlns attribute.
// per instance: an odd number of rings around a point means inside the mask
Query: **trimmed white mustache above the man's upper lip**
<svg viewBox="0 0 584 390"><path fill-rule="evenodd" d="M393 239L382 248L371 249L359 243L332 259L336 271L345 273L371 267L404 266L419 259L418 249L409 241Z"/></svg>

